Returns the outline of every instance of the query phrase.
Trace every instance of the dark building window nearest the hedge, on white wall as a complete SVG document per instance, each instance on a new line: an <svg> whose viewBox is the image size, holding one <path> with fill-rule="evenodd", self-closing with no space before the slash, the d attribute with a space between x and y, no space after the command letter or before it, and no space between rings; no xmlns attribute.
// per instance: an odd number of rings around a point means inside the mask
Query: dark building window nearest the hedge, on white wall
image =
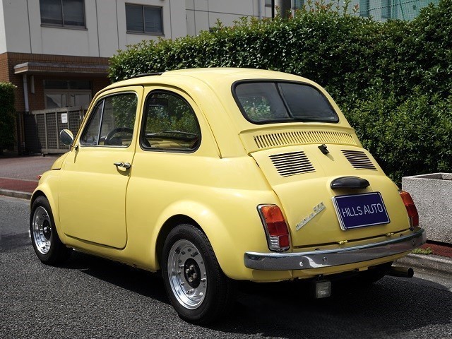
<svg viewBox="0 0 452 339"><path fill-rule="evenodd" d="M162 35L162 7L126 4L127 32Z"/></svg>

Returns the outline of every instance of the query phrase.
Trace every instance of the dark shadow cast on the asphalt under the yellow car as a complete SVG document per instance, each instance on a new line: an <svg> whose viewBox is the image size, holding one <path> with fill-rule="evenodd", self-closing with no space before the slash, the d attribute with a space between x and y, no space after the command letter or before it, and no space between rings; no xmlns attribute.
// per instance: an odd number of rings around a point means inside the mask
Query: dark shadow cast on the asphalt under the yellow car
<svg viewBox="0 0 452 339"><path fill-rule="evenodd" d="M169 304L160 273L77 251L61 268L79 270ZM399 338L426 326L450 326L452 293L432 284L392 277L366 287L345 281L333 283L331 297L312 299L309 283L304 281L239 283L230 314L204 327L270 338Z"/></svg>

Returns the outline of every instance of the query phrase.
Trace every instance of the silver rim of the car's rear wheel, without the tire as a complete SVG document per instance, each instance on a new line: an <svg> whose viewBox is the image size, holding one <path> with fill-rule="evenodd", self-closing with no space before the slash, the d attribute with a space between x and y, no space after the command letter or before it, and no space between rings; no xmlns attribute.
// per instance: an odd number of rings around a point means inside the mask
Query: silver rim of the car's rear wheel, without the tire
<svg viewBox="0 0 452 339"><path fill-rule="evenodd" d="M207 291L206 266L194 244L177 240L169 251L168 278L174 297L186 309L197 309Z"/></svg>

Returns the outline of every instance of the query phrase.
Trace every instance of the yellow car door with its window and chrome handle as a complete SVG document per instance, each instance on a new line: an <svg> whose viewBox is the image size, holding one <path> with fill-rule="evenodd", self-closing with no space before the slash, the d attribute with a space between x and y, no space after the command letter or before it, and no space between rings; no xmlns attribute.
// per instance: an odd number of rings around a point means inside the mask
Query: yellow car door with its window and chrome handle
<svg viewBox="0 0 452 339"><path fill-rule="evenodd" d="M141 86L99 97L66 157L59 189L64 233L87 242L124 248L126 189L133 165Z"/></svg>

